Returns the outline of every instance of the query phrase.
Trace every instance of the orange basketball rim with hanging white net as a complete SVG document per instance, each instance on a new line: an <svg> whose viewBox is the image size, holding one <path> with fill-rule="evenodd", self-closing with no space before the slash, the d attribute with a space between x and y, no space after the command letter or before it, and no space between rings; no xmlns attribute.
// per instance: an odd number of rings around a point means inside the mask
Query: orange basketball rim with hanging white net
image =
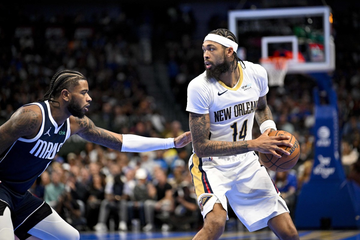
<svg viewBox="0 0 360 240"><path fill-rule="evenodd" d="M284 86L284 79L288 71L288 59L286 57L261 58L260 65L265 68L268 76L268 85Z"/></svg>

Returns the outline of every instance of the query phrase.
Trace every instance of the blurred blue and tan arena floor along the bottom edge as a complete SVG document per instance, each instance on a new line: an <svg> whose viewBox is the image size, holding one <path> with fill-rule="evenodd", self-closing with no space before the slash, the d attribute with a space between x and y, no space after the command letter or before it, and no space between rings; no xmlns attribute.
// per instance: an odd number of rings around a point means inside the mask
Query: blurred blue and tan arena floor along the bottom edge
<svg viewBox="0 0 360 240"><path fill-rule="evenodd" d="M191 240L196 232L84 232L81 240ZM301 240L360 240L360 230L299 231ZM220 240L276 240L271 231L224 232Z"/></svg>

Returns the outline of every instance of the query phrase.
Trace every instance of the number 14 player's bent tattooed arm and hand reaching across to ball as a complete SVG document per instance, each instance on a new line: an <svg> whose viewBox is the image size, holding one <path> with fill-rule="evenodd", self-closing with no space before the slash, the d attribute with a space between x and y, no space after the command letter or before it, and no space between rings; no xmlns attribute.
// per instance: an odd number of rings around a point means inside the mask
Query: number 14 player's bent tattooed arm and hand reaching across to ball
<svg viewBox="0 0 360 240"><path fill-rule="evenodd" d="M249 151L260 151L261 153L271 153L276 157L281 157L275 152L278 150L289 155L288 151L279 148L278 145L289 145L283 141L288 136L269 137L269 130L265 131L260 137L254 140L245 140L237 142L213 141L209 140L210 134L210 117L209 114L198 114L190 112L189 117L190 132L193 138L193 148L198 157L219 157L231 156Z"/></svg>

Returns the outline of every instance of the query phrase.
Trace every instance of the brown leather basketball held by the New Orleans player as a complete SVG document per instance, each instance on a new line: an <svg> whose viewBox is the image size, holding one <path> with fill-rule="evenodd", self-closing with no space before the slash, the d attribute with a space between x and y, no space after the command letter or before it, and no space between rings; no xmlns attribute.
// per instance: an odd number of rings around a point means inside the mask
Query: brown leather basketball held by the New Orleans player
<svg viewBox="0 0 360 240"><path fill-rule="evenodd" d="M260 163L264 165L266 168L270 169L271 171L284 172L294 167L295 164L297 163L297 160L299 160L300 145L299 142L296 140L296 138L289 132L278 130L269 133L269 136L278 136L278 135L290 136L290 139L284 141L291 142L293 144L292 148L285 145L279 145L279 148L282 148L290 152L290 155L286 155L284 153L276 151L276 153L281 155L281 158L277 158L271 153L259 152L259 158L260 158Z"/></svg>

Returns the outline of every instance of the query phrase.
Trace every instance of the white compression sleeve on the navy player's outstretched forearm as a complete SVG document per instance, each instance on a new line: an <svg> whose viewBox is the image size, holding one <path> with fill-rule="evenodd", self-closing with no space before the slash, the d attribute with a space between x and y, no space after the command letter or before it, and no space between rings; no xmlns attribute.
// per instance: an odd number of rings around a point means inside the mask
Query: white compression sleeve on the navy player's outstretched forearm
<svg viewBox="0 0 360 240"><path fill-rule="evenodd" d="M174 138L141 137L132 134L122 135L122 152L141 153L159 149L175 148Z"/></svg>

